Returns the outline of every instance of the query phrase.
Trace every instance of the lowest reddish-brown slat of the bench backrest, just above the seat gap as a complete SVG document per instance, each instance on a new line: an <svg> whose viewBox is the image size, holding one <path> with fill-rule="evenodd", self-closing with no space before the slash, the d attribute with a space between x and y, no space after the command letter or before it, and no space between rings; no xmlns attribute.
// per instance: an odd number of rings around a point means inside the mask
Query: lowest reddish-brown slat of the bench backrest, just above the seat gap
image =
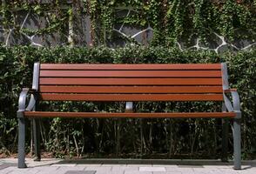
<svg viewBox="0 0 256 174"><path fill-rule="evenodd" d="M223 94L55 94L42 93L42 100L71 101L223 101Z"/></svg>

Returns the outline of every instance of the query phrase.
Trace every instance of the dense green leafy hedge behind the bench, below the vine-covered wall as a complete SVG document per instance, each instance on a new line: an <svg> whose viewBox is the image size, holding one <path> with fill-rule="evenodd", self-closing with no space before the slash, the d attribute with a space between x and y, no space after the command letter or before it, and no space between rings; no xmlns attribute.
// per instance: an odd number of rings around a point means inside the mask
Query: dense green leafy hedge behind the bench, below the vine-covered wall
<svg viewBox="0 0 256 174"><path fill-rule="evenodd" d="M256 50L226 52L180 51L166 47L130 46L118 49L0 47L0 147L5 153L17 151L17 97L30 87L34 62L86 64L228 64L230 84L241 98L243 157L256 149ZM44 102L47 110L124 111L123 103ZM136 103L138 111L219 110L214 103ZM30 128L30 124L28 124ZM232 131L230 157L232 156ZM27 132L30 147L30 131ZM44 119L42 148L54 157L84 157L89 154L119 157L219 157L220 119ZM28 149L27 151L30 151ZM212 155L214 154L214 155Z"/></svg>

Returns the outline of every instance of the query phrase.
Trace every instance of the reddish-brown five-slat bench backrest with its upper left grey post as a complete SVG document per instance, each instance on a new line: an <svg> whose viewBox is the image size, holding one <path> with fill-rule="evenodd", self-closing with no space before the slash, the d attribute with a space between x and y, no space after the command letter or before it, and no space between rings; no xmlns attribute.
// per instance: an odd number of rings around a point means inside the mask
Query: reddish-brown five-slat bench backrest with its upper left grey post
<svg viewBox="0 0 256 174"><path fill-rule="evenodd" d="M221 64L35 64L42 100L223 101Z"/></svg>

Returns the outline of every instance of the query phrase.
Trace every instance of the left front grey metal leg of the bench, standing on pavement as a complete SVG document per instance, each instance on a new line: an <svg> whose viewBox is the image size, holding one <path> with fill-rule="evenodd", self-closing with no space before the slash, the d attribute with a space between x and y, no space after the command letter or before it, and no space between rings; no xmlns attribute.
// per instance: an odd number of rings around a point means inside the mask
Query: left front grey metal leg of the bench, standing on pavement
<svg viewBox="0 0 256 174"><path fill-rule="evenodd" d="M25 164L25 118L18 118L18 168L26 168Z"/></svg>

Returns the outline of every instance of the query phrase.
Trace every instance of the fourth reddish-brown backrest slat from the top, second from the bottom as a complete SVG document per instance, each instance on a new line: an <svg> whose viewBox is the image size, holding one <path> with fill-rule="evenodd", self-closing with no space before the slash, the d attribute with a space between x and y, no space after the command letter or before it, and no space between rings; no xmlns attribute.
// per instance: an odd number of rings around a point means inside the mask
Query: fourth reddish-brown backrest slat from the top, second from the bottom
<svg viewBox="0 0 256 174"><path fill-rule="evenodd" d="M52 93L222 93L222 86L54 86L41 85Z"/></svg>

